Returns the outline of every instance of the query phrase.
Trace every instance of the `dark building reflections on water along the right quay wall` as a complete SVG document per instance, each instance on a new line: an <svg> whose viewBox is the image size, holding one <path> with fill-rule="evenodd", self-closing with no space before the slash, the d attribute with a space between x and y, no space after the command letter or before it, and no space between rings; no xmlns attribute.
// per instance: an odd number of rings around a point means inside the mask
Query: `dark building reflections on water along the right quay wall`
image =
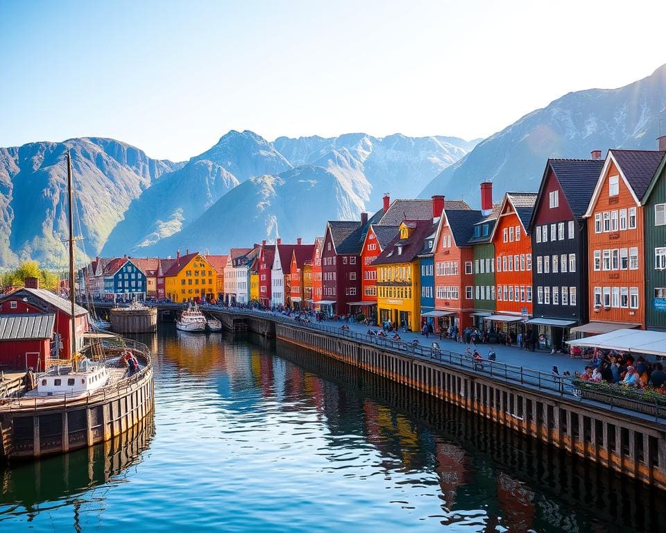
<svg viewBox="0 0 666 533"><path fill-rule="evenodd" d="M251 341L264 350L273 344ZM388 458L386 471L435 471L443 510L486 509L486 531L498 516L519 531L666 528L661 491L381 376L274 344L298 369L289 371L291 399L321 407L332 435L363 434Z"/></svg>

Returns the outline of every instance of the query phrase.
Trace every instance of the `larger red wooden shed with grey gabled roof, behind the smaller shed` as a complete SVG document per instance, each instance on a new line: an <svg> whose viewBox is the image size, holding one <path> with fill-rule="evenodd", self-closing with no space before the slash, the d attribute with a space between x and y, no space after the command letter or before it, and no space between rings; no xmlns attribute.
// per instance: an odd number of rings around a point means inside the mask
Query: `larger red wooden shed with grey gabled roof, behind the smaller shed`
<svg viewBox="0 0 666 533"><path fill-rule="evenodd" d="M70 310L71 304L65 298L60 298L50 291L39 288L24 287L0 298L0 314L2 315L55 315L51 357L59 359L69 358L71 353ZM74 312L76 314L76 349L80 350L83 347L82 335L88 330L88 312L79 305L74 306Z"/></svg>

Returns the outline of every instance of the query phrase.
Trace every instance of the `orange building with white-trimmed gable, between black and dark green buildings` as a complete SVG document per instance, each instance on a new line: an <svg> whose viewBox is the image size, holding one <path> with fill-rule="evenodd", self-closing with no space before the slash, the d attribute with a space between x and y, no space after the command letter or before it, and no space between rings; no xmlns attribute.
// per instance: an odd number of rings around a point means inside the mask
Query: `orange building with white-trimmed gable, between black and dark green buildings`
<svg viewBox="0 0 666 533"><path fill-rule="evenodd" d="M609 150L585 214L588 218L590 324L582 333L645 327L641 200L660 153Z"/></svg>

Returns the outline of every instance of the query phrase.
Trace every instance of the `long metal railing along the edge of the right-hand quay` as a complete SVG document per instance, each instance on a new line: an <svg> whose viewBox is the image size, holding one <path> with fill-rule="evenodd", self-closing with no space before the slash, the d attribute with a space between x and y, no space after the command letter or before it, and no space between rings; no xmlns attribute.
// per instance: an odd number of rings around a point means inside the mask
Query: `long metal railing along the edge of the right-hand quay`
<svg viewBox="0 0 666 533"><path fill-rule="evenodd" d="M270 311L251 310L237 307L223 307L219 305L206 305L205 308L216 312L225 312L228 314L255 316L257 318L268 319L277 323L288 324L300 328L315 330L342 339L354 339L364 344L372 344L386 350L392 350L403 355L410 355L418 359L425 359L430 362L438 362L446 366L452 366L463 369L478 375L486 375L489 378L503 382L520 384L523 387L547 391L550 394L557 394L562 397L569 397L572 400L586 401L586 403L599 404L599 407L608 409L628 409L633 412L654 416L655 420L666 418L666 405L661 405L658 400L645 401L638 398L629 398L609 394L605 391L597 391L594 388L580 388L577 386L576 378L563 375L554 375L553 373L543 372L536 369L530 369L525 366L516 366L503 362L491 361L490 359L475 359L470 355L456 353L444 348L434 348L422 344L413 344L411 342L380 337L378 335L368 335L352 330L341 329L316 322L297 321L283 314L275 314Z"/></svg>

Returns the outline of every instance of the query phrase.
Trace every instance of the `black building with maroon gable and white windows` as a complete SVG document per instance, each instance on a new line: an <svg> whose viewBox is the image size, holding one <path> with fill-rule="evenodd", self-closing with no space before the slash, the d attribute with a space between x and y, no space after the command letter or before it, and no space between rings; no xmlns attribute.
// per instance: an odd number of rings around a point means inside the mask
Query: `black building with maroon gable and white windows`
<svg viewBox="0 0 666 533"><path fill-rule="evenodd" d="M593 152L594 157L600 152ZM529 223L538 347L559 350L588 321L588 232L583 218L604 161L549 159Z"/></svg>

